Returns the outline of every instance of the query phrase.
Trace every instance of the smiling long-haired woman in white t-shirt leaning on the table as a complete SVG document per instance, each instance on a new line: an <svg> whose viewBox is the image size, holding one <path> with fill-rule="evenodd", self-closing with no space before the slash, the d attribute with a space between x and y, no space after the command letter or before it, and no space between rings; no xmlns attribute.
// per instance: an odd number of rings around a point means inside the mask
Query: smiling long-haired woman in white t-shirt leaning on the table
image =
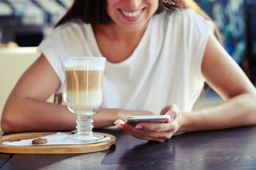
<svg viewBox="0 0 256 170"><path fill-rule="evenodd" d="M76 116L65 106L46 103L61 91L66 56L107 58L95 128L114 123L134 137L163 142L176 132L255 125L255 87L206 18L192 0L75 0L9 96L2 129L75 128ZM205 82L225 101L192 111ZM171 121L124 123L128 115L159 113L171 115Z"/></svg>

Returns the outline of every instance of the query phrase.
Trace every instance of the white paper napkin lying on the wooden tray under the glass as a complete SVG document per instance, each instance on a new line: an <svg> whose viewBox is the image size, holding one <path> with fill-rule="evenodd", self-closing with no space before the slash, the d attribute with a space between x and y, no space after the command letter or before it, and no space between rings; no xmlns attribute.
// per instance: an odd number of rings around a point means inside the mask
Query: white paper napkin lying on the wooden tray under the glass
<svg viewBox="0 0 256 170"><path fill-rule="evenodd" d="M67 133L57 132L53 135L47 135L40 138L45 138L48 140L46 144L41 145L80 145L80 144L90 144L90 143L98 143L110 140L110 137L104 137L101 140L97 140L96 142L72 142L70 140L66 140L65 138L68 137ZM39 138L39 137L36 137ZM20 140L15 142L3 142L3 145L12 145L12 146L32 146L32 140L36 139L29 139L29 140Z"/></svg>

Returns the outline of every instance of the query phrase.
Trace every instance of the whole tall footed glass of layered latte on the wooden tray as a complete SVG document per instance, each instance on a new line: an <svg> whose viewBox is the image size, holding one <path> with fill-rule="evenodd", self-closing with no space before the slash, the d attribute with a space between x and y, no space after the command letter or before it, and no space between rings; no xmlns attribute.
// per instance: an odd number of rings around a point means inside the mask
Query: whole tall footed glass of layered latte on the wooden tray
<svg viewBox="0 0 256 170"><path fill-rule="evenodd" d="M65 57L64 100L68 110L78 115L73 142L95 142L103 138L92 132L92 115L102 106L105 57Z"/></svg>

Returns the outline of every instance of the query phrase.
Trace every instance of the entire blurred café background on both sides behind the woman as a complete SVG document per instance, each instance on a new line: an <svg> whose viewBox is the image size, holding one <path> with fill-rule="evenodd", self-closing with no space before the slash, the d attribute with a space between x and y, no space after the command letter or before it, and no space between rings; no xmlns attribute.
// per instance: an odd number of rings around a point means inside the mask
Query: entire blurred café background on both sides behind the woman
<svg viewBox="0 0 256 170"><path fill-rule="evenodd" d="M36 46L51 33L72 2L0 0L0 113L18 78L38 57ZM225 49L256 85L256 1L196 2L213 18Z"/></svg>

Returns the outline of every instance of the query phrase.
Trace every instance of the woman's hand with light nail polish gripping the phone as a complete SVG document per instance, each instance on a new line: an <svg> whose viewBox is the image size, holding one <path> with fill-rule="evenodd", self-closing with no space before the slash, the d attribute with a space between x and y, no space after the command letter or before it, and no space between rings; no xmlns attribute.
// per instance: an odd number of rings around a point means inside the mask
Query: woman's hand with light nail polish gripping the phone
<svg viewBox="0 0 256 170"><path fill-rule="evenodd" d="M169 140L181 127L181 111L178 106L171 104L163 108L161 115L170 115L171 120L166 123L137 123L136 125L117 120L114 124L117 128L139 139L164 142Z"/></svg>

